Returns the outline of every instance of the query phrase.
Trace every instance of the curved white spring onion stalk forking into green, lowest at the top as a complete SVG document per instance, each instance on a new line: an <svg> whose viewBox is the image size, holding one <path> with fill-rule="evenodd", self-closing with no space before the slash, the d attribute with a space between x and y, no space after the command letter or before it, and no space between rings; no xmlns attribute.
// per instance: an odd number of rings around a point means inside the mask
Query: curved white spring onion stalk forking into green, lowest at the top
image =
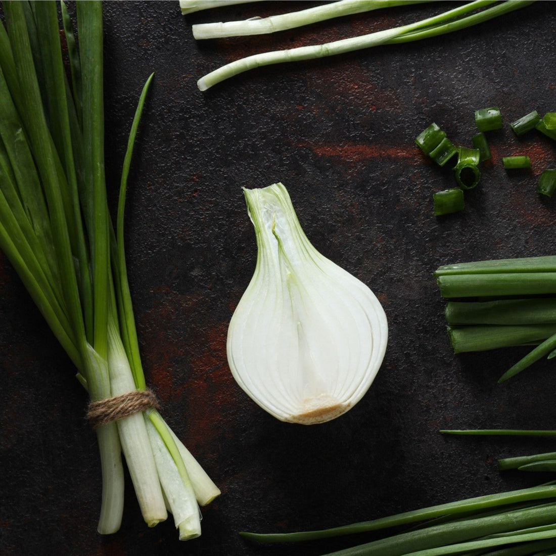
<svg viewBox="0 0 556 556"><path fill-rule="evenodd" d="M379 46L380 44L398 44L401 42L412 42L424 38L435 37L440 34L459 31L460 29L488 21L489 19L501 16L515 9L528 6L530 3L529 1L522 2L519 0L505 1L496 6L487 7L493 4L493 2L488 0L476 0L475 2L468 2L463 6L450 9L438 16L422 19L421 21L404 26L370 33L361 37L342 39L327 44L316 44L313 46L254 54L253 56L226 64L206 76L201 77L197 82L197 86L201 91L206 91L217 83L234 77L239 73L261 66L268 66L270 64L323 58L335 54ZM476 12L479 8L486 9ZM469 13L471 14L468 15Z"/></svg>

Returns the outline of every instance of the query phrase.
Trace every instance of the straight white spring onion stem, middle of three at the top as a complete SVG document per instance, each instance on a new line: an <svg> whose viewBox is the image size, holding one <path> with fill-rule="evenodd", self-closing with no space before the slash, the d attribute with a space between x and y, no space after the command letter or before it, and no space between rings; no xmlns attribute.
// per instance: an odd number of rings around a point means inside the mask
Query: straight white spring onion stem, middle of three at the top
<svg viewBox="0 0 556 556"><path fill-rule="evenodd" d="M255 34L275 33L311 23L318 23L340 16L369 12L374 9L416 4L427 0L339 0L322 4L298 12L281 13L265 18L251 18L246 21L228 21L225 23L199 23L193 25L193 37L196 39L241 37Z"/></svg>

